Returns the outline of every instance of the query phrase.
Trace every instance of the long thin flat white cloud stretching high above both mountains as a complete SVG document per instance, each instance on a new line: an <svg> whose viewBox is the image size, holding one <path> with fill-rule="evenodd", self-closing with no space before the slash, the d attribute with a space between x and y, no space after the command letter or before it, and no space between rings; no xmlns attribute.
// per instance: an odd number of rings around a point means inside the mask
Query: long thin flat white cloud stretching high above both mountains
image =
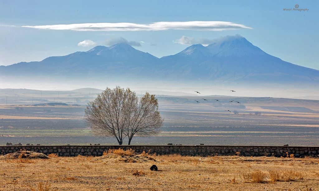
<svg viewBox="0 0 319 191"><path fill-rule="evenodd" d="M74 30L74 31L161 31L161 30L200 30L223 31L235 29L251 29L245 25L225 21L187 21L156 22L152 24L136 23L82 23L70 25L22 26L36 29Z"/></svg>

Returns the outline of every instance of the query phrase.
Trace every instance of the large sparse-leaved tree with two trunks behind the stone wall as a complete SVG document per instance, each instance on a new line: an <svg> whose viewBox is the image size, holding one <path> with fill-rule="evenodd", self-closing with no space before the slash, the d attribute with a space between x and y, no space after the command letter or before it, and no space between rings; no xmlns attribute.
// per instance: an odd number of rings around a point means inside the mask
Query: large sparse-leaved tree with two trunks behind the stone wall
<svg viewBox="0 0 319 191"><path fill-rule="evenodd" d="M130 145L134 135L158 133L163 122L155 95L146 93L139 99L129 88L120 87L107 88L89 102L84 119L96 135L114 136L119 145L125 137Z"/></svg>

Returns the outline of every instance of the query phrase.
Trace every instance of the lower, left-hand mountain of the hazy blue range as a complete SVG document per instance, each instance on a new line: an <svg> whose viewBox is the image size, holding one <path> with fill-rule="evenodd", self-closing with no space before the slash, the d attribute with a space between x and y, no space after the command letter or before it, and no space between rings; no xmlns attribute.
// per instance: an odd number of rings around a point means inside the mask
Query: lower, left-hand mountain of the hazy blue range
<svg viewBox="0 0 319 191"><path fill-rule="evenodd" d="M96 46L87 52L76 52L66 56L52 56L40 62L20 62L10 66L0 66L2 75L40 75L40 76L90 76L95 74L130 73L148 62L158 60L149 53L134 49L127 44L110 47Z"/></svg>

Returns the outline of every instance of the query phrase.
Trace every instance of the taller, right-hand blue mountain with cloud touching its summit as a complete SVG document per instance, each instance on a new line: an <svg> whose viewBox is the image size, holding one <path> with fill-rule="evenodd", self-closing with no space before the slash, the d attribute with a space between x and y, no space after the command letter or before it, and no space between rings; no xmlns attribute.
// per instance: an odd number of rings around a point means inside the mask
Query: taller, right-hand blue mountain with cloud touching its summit
<svg viewBox="0 0 319 191"><path fill-rule="evenodd" d="M247 39L227 36L206 47L192 45L161 58L159 71L171 77L228 83L319 82L319 71L285 62L263 52ZM171 66L171 67L169 67Z"/></svg>

